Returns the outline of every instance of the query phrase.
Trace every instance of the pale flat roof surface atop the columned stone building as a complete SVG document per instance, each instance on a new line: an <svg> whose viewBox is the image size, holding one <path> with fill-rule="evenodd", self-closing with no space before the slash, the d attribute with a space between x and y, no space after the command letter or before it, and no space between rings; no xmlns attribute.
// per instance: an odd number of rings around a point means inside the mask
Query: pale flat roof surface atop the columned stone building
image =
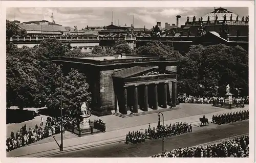
<svg viewBox="0 0 256 163"><path fill-rule="evenodd" d="M127 55L114 55L114 56L95 56L95 57L83 57L80 59L106 61L106 60L123 60L123 59L143 59L149 58L145 56L127 56Z"/></svg>

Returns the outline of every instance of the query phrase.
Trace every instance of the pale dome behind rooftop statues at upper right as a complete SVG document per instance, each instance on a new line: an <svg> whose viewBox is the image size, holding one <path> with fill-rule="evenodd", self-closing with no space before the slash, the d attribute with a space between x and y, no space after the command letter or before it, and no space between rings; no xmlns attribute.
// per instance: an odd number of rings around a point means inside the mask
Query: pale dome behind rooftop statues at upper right
<svg viewBox="0 0 256 163"><path fill-rule="evenodd" d="M214 21L215 20L215 16L218 16L218 20L224 20L224 15L226 15L226 20L229 21L230 17L232 15L232 20L236 21L237 20L237 14L232 13L231 11L228 11L227 9L224 8L218 8L215 9L215 11L211 11L208 14L202 16L203 21L207 21L208 20L208 16L210 18L210 21ZM198 18L197 18L198 19ZM238 17L239 21L242 21L242 19L240 17Z"/></svg>

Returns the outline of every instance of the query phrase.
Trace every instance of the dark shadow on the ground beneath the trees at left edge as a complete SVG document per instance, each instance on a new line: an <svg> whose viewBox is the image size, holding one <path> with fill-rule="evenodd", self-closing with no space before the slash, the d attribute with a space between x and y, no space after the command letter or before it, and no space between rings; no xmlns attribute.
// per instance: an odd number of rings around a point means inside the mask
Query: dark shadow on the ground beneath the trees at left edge
<svg viewBox="0 0 256 163"><path fill-rule="evenodd" d="M32 120L36 117L34 111L20 110L20 109L7 109L6 110L6 124L9 123L22 123Z"/></svg>

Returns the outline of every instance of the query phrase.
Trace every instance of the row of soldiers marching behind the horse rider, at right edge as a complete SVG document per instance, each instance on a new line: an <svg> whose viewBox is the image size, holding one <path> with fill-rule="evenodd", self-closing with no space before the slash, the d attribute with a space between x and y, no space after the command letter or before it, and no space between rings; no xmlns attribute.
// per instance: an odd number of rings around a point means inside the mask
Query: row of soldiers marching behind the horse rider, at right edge
<svg viewBox="0 0 256 163"><path fill-rule="evenodd" d="M225 123L231 123L236 121L242 121L246 119L249 119L248 110L212 116L212 122L216 124L225 124Z"/></svg>

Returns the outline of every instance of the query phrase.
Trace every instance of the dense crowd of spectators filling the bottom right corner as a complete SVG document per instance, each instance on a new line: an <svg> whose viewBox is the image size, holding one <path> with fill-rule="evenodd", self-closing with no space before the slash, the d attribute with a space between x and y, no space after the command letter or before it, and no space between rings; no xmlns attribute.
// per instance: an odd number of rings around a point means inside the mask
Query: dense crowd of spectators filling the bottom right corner
<svg viewBox="0 0 256 163"><path fill-rule="evenodd" d="M249 137L239 137L220 143L174 149L152 157L248 157Z"/></svg>

